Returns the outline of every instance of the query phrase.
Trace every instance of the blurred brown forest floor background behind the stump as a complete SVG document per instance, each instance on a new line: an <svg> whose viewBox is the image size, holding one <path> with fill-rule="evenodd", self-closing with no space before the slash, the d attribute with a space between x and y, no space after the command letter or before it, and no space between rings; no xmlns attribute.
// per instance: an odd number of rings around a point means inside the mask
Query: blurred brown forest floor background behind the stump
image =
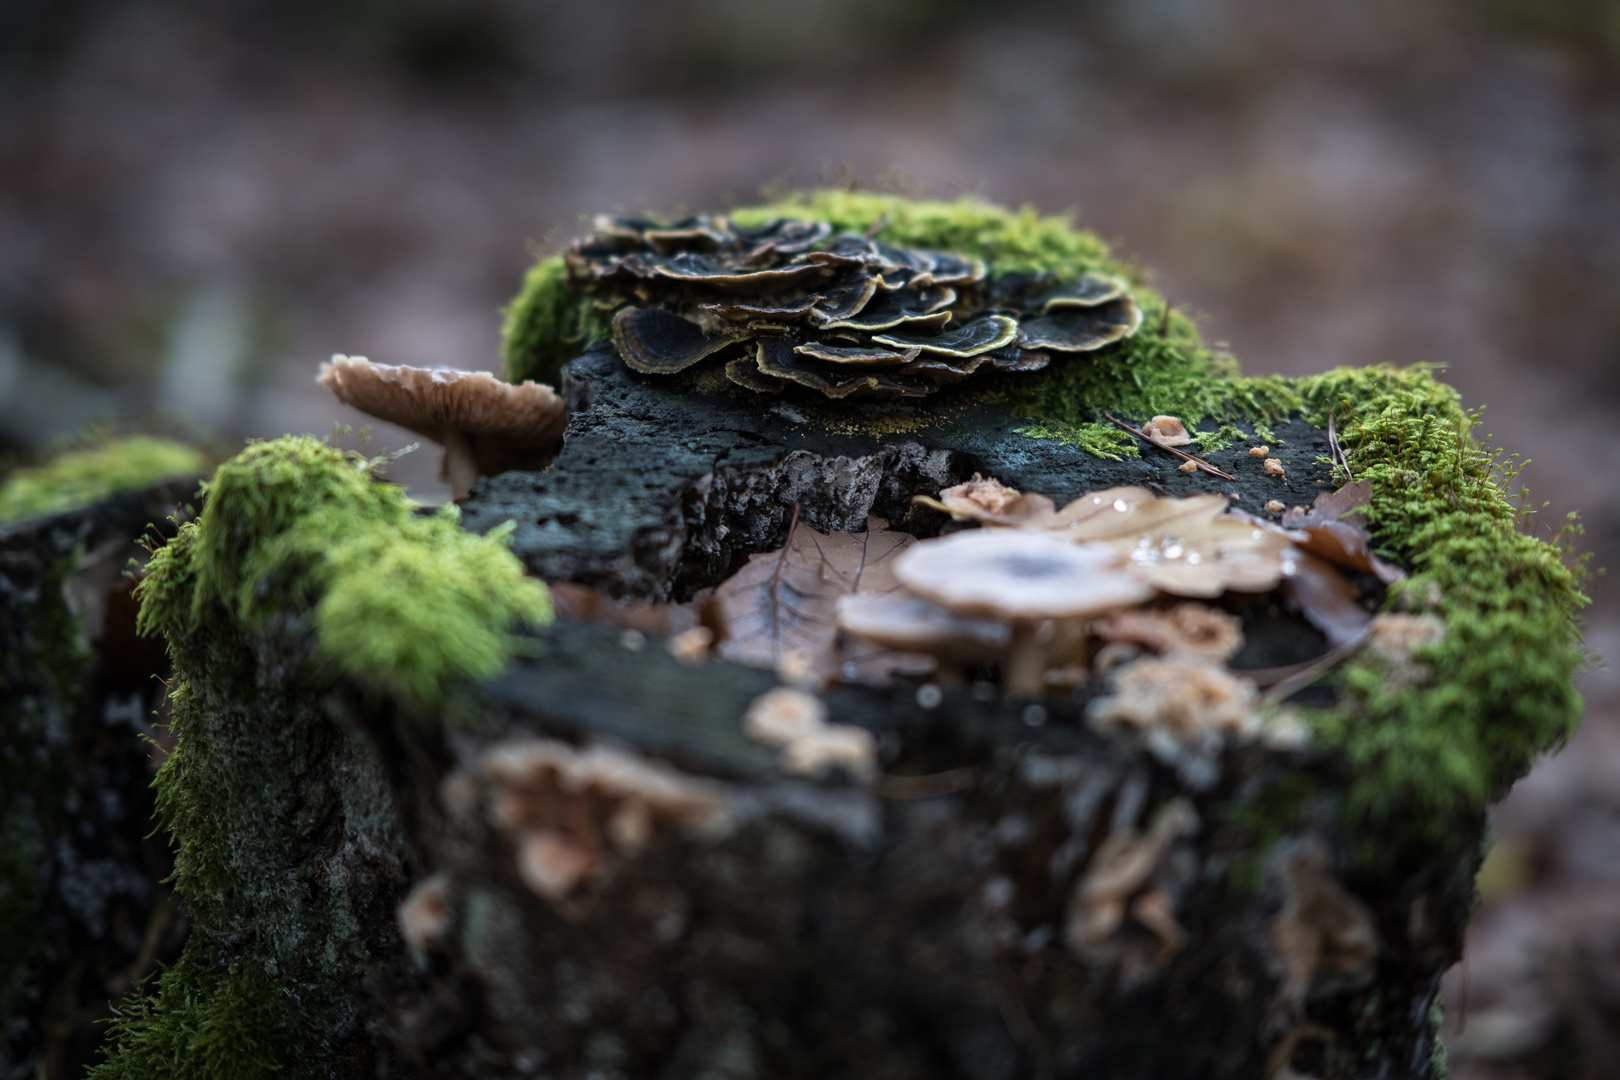
<svg viewBox="0 0 1620 1080"><path fill-rule="evenodd" d="M1074 207L1251 372L1445 363L1617 562L1620 0L0 0L0 452L360 426L321 359L494 368L582 214L812 183ZM1584 688L1495 811L1460 1077L1620 1077Z"/></svg>

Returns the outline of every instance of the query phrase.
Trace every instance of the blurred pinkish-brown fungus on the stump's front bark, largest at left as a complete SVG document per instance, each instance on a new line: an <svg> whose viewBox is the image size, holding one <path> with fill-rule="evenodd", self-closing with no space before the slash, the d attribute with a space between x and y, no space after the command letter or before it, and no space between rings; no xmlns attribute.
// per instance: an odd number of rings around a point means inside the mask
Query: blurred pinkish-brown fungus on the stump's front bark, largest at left
<svg viewBox="0 0 1620 1080"><path fill-rule="evenodd" d="M609 746L514 740L484 755L481 774L489 823L510 839L518 878L552 902L604 873L614 855L642 850L659 823L693 839L732 824L718 785Z"/></svg>

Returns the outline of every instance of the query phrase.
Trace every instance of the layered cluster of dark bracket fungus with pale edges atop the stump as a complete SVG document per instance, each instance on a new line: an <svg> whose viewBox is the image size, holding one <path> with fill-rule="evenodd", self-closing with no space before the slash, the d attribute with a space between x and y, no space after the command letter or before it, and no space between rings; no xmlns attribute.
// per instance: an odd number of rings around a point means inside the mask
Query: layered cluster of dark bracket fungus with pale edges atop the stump
<svg viewBox="0 0 1620 1080"><path fill-rule="evenodd" d="M632 369L672 374L713 356L760 393L923 397L980 371L1038 371L1142 322L1118 279L991 277L980 259L834 236L826 222L598 217L567 267L616 313Z"/></svg>

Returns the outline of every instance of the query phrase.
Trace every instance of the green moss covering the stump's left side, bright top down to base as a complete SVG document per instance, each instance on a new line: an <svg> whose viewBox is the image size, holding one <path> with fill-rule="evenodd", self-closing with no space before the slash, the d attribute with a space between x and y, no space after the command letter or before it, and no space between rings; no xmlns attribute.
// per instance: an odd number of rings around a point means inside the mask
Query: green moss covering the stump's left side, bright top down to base
<svg viewBox="0 0 1620 1080"><path fill-rule="evenodd" d="M371 908L405 855L356 709L442 716L551 619L499 531L421 513L377 463L309 437L249 445L136 589L175 661L156 789L194 926L99 1080L326 1075L364 1038L355 996L394 947ZM364 857L335 879L322 845Z"/></svg>

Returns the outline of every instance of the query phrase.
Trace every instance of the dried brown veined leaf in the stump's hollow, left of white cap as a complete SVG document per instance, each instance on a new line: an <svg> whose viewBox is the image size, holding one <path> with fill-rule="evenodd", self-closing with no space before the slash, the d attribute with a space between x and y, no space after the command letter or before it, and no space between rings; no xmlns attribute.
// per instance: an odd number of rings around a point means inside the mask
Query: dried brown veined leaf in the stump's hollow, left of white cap
<svg viewBox="0 0 1620 1080"><path fill-rule="evenodd" d="M818 533L797 523L784 547L750 555L714 589L724 628L719 654L773 669L797 654L823 678L839 675L838 597L897 589L891 563L914 542L907 533L891 533L883 518L867 518L865 533Z"/></svg>

